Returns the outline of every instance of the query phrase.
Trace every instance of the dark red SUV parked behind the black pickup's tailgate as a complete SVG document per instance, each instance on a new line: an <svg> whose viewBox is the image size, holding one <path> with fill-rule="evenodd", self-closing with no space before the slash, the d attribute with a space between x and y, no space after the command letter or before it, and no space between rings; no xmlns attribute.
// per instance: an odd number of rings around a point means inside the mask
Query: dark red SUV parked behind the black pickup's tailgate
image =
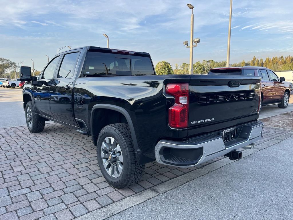
<svg viewBox="0 0 293 220"><path fill-rule="evenodd" d="M261 77L261 100L262 106L275 105L285 109L289 104L290 86L284 77L278 77L274 71L266 67L223 67L210 69L208 75L236 75Z"/></svg>

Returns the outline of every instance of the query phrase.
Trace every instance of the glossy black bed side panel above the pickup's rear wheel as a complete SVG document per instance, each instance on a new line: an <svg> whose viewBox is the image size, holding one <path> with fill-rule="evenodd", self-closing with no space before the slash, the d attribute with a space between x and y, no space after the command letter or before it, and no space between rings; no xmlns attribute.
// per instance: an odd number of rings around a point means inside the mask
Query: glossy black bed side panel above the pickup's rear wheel
<svg viewBox="0 0 293 220"><path fill-rule="evenodd" d="M187 129L180 131L168 126L168 108L173 104L166 98L163 88L168 82L189 80L188 75L78 78L74 86L74 97L82 96L85 104L80 108L74 103L74 114L90 128L91 109L94 105L122 107L132 119L139 149L144 155L154 158L153 148L159 139L187 137Z"/></svg>

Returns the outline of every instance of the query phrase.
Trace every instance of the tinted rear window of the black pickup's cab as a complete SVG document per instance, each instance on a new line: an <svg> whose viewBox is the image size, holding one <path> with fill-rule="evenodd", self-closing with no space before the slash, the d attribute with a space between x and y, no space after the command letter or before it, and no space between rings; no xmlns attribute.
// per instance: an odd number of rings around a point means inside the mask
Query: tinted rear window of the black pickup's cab
<svg viewBox="0 0 293 220"><path fill-rule="evenodd" d="M155 75L150 57L115 53L88 52L83 69L87 76Z"/></svg>

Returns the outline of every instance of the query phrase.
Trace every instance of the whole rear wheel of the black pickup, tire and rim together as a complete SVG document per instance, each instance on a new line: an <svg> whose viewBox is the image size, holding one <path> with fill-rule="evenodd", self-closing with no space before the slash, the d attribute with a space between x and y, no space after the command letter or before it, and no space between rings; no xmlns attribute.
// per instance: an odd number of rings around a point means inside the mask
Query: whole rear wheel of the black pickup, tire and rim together
<svg viewBox="0 0 293 220"><path fill-rule="evenodd" d="M144 165L135 157L129 126L125 123L105 126L97 141L97 157L105 179L121 189L137 183Z"/></svg>

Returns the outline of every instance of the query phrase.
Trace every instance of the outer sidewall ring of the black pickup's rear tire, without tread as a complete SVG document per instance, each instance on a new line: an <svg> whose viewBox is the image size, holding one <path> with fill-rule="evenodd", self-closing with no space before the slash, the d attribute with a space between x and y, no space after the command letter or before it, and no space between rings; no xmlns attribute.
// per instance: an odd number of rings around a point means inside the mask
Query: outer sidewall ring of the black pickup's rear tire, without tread
<svg viewBox="0 0 293 220"><path fill-rule="evenodd" d="M122 170L121 175L117 178L111 177L108 174L108 172L104 168L103 161L101 158L101 146L102 146L102 143L106 137L114 138L117 141L117 143L119 144L120 149L122 151L123 170ZM100 167L100 170L101 170L103 176L111 185L112 184L115 184L115 185L123 184L123 182L126 179L128 179L127 175L129 173L128 171L130 170L130 167L129 167L130 164L128 162L127 156L128 156L127 144L126 144L123 136L120 134L120 132L117 131L113 127L112 128L111 127L103 128L99 134L98 141L97 141L97 159L98 159L99 167Z"/></svg>

